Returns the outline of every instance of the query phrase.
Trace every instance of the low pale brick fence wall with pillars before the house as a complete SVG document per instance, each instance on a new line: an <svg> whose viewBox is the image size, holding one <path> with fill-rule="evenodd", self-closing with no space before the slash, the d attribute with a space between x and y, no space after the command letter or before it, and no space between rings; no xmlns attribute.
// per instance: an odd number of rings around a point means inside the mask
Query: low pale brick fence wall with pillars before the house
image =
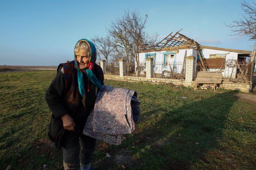
<svg viewBox="0 0 256 170"><path fill-rule="evenodd" d="M145 73L144 76L140 74L134 74L134 76L127 75L127 67L126 67L126 60L125 59L120 59L119 60L119 75L118 74L111 74L109 72L106 72L106 61L101 60L100 61L101 68L104 72L104 76L106 78L117 78L117 79L125 79L125 80L132 80L132 81L148 81L148 82L165 82L165 83L172 83L176 85L184 85L184 86L190 86L194 87L194 80L197 75L197 63L196 63L196 58L193 56L188 56L186 58L186 65L183 66L184 71L182 72L183 76L180 76L181 78L173 78L173 76L164 76L164 73L169 73L170 71L166 71L163 67L163 74L157 78L157 76L154 76L154 68L155 68L155 63L153 58L147 58L145 61L145 69L142 70L141 72ZM135 64L135 70L137 65ZM171 72L172 69L171 69ZM181 75L181 73L175 73L178 75ZM185 75L184 75L185 74ZM184 79L185 78L185 79ZM204 85L203 85L204 86ZM232 89L232 90L239 90L243 92L249 92L250 85L248 83L233 83L233 82L222 82L219 85L220 88L225 88L225 89Z"/></svg>

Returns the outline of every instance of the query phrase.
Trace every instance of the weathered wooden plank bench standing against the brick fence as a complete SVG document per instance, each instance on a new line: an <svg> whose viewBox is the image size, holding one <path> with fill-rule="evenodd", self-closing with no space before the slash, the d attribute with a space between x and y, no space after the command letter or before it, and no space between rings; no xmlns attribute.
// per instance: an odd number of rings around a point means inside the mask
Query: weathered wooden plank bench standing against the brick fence
<svg viewBox="0 0 256 170"><path fill-rule="evenodd" d="M222 81L222 73L224 71L199 71L195 80L196 87L198 84L214 84L214 91L216 84Z"/></svg>

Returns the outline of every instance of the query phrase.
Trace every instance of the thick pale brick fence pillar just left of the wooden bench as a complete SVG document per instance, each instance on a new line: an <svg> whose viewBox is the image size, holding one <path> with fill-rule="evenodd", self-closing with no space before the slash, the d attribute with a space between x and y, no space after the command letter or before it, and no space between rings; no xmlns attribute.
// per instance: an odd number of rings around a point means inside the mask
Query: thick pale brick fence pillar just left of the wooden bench
<svg viewBox="0 0 256 170"><path fill-rule="evenodd" d="M185 81L189 84L196 77L196 58L193 56L188 56L186 58L186 76Z"/></svg>

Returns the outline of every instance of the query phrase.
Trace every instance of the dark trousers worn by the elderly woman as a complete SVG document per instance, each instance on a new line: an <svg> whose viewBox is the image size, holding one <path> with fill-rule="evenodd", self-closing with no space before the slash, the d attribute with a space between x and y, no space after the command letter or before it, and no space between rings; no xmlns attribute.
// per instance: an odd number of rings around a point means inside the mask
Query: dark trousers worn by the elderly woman
<svg viewBox="0 0 256 170"><path fill-rule="evenodd" d="M90 166L96 139L77 131L65 130L62 138L63 166L65 170L76 170L82 166Z"/></svg>

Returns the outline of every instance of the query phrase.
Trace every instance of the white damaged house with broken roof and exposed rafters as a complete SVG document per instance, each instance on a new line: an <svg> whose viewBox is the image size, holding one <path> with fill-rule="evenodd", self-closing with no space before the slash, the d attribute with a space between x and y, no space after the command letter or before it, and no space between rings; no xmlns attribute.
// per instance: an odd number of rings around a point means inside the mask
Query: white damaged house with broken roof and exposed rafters
<svg viewBox="0 0 256 170"><path fill-rule="evenodd" d="M198 71L219 71L223 79L247 82L251 51L200 45L179 32L169 34L153 47L141 48L140 62L153 59L154 77L185 78L186 58L193 56L196 58L195 75Z"/></svg>

